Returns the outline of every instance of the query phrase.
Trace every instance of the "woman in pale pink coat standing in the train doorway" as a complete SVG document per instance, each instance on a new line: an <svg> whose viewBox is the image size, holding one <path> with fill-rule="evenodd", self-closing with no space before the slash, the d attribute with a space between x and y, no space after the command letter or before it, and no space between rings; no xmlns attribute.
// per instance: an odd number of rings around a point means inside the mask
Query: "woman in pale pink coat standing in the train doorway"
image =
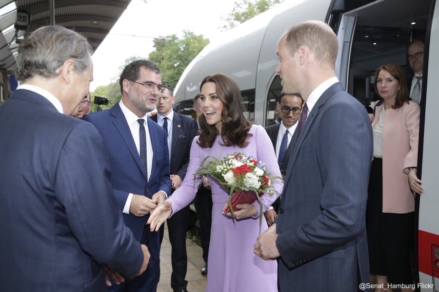
<svg viewBox="0 0 439 292"><path fill-rule="evenodd" d="M421 193L418 164L419 105L412 102L398 64L375 73L375 92L383 99L372 122L374 159L367 202L371 274L377 284L411 291L410 248L414 240L414 193ZM377 289L375 291L384 291Z"/></svg>

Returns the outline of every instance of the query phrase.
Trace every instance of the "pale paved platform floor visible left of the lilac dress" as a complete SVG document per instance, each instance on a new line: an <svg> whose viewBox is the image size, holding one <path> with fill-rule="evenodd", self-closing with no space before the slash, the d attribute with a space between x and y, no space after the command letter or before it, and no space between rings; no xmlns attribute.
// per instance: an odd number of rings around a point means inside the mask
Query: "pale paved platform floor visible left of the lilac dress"
<svg viewBox="0 0 439 292"><path fill-rule="evenodd" d="M187 274L186 280L188 292L205 292L207 276L201 275L201 268L204 265L203 251L200 246L186 239L187 249ZM171 243L169 242L168 228L165 224L163 242L160 249L160 281L157 292L173 292L171 288Z"/></svg>

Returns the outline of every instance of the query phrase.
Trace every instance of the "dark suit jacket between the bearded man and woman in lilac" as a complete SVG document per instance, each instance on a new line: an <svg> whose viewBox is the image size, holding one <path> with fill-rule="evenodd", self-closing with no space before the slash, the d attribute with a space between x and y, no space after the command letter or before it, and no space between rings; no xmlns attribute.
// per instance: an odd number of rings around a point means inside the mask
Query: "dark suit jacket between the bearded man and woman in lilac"
<svg viewBox="0 0 439 292"><path fill-rule="evenodd" d="M157 123L157 114L151 116L151 119ZM198 125L193 118L174 112L170 174L177 174L181 180L186 176L192 140L197 135L197 130Z"/></svg>

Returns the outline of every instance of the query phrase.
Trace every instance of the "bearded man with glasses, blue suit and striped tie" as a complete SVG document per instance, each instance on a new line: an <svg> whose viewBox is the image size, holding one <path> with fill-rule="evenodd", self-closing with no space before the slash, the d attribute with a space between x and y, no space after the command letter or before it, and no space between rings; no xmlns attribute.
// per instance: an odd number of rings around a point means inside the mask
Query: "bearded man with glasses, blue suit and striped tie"
<svg viewBox="0 0 439 292"><path fill-rule="evenodd" d="M100 132L110 154L116 198L125 224L151 252L148 269L140 277L113 285L112 291L156 291L159 282L159 233L145 226L149 212L171 193L166 134L148 112L156 108L162 88L160 68L137 60L120 75L122 100L109 110L83 117Z"/></svg>

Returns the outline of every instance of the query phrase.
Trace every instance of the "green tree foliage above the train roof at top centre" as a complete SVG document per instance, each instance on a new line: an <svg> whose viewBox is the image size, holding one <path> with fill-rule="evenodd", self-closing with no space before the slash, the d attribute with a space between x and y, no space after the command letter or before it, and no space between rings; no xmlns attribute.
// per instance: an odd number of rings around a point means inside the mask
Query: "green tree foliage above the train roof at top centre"
<svg viewBox="0 0 439 292"><path fill-rule="evenodd" d="M280 2L282 2L282 0L235 1L232 12L230 12L225 18L222 18L223 21L227 22L223 28L226 30L231 29L238 24L257 16L258 14L261 14Z"/></svg>

